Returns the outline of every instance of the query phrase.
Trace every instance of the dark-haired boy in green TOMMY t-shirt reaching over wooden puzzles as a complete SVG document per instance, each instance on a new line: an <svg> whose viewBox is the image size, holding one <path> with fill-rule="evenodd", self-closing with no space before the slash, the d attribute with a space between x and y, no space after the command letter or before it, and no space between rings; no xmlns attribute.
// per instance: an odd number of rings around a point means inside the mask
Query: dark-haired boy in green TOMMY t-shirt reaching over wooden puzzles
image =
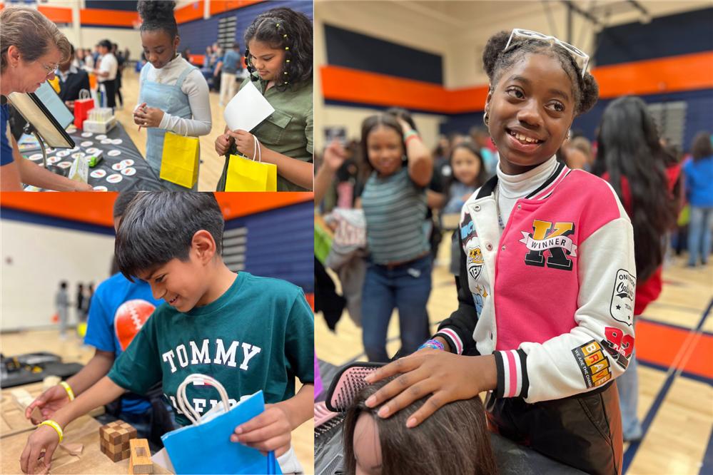
<svg viewBox="0 0 713 475"><path fill-rule="evenodd" d="M126 389L143 394L163 380L176 422L190 424L176 390L193 373L221 382L231 407L262 390L265 412L236 427L231 441L284 454L278 460L283 471L300 470L294 456L287 459L291 431L313 417L314 315L299 287L231 272L221 259L224 225L212 193L140 193L132 201L116 235L116 262L129 280L145 280L166 303L106 377L57 411L54 425L29 436L21 456L25 473L34 473L42 451L49 466L69 422ZM303 383L297 394L295 377ZM186 399L199 414L219 402L207 385L189 384Z"/></svg>

